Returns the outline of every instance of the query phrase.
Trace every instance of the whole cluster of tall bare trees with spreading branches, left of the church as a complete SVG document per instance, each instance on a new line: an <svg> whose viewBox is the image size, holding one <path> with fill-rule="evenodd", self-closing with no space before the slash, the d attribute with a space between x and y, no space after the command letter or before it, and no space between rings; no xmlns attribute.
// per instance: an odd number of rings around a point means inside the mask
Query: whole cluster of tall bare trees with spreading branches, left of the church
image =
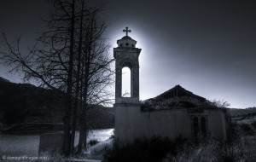
<svg viewBox="0 0 256 162"><path fill-rule="evenodd" d="M98 16L102 8L86 8L84 0L52 0L51 3L52 12L45 20L49 29L34 47L21 54L20 38L9 41L3 34L6 50L1 51L0 57L13 72L25 72L24 80L35 79L39 86L66 96L63 152L69 156L73 151L77 117L81 153L86 148L86 110L109 102L107 87L113 84L110 67L113 59L108 53L109 44L102 38L107 27Z"/></svg>

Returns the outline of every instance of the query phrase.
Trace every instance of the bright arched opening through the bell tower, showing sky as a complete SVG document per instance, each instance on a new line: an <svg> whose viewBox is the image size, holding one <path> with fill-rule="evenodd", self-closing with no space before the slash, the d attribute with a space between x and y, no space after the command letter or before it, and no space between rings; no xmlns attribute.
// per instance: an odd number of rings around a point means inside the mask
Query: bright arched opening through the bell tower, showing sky
<svg viewBox="0 0 256 162"><path fill-rule="evenodd" d="M122 96L131 97L131 70L129 67L122 69Z"/></svg>

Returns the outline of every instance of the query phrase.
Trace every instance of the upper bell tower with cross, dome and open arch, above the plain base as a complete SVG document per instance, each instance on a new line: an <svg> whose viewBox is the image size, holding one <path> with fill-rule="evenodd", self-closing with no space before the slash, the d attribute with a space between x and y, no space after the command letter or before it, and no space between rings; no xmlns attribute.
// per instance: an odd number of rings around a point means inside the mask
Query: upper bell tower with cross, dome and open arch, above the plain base
<svg viewBox="0 0 256 162"><path fill-rule="evenodd" d="M136 48L136 40L128 36L128 27L125 27L125 37L117 41L118 47L113 49L115 59L115 103L137 103L139 101L139 55L142 49ZM131 97L122 96L122 69L131 70Z"/></svg>

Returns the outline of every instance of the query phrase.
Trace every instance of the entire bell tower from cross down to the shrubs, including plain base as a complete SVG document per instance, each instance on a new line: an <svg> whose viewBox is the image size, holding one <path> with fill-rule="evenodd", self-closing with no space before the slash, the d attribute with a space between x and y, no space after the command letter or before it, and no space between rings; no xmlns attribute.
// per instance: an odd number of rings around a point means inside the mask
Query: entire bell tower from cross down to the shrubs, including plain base
<svg viewBox="0 0 256 162"><path fill-rule="evenodd" d="M139 55L142 49L136 48L137 41L128 36L131 30L125 27L125 37L117 41L118 47L113 48L115 59L115 123L114 135L117 139L131 142L137 137L140 125L140 94L139 94ZM122 69L128 67L131 70L131 97L122 96Z"/></svg>

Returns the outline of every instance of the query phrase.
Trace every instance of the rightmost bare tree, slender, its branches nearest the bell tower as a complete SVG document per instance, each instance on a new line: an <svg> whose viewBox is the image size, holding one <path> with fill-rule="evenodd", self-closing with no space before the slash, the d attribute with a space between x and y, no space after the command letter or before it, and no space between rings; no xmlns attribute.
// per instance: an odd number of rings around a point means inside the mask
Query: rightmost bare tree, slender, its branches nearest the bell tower
<svg viewBox="0 0 256 162"><path fill-rule="evenodd" d="M83 70L83 107L79 109L79 153L86 148L87 139L87 118L86 111L100 104L110 103L109 97L112 95L107 87L113 84L113 70L108 49L109 44L102 39L102 34L106 30L106 23L97 17L97 14L91 14L88 20L88 26L84 28L84 48L82 55Z"/></svg>

